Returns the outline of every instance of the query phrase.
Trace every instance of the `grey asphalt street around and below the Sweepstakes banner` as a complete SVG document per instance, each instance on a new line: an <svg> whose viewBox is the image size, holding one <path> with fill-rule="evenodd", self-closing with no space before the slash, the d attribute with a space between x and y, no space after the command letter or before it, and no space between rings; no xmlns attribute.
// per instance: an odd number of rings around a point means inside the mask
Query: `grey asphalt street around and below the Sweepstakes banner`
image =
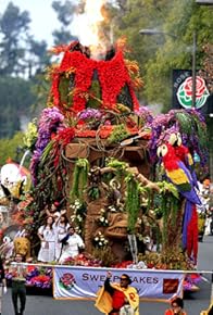
<svg viewBox="0 0 213 315"><path fill-rule="evenodd" d="M203 242L199 242L199 270L213 269L213 236L204 236ZM188 315L200 315L208 308L211 292L211 274L203 274L204 280L199 285L200 290L185 294L185 308ZM163 315L166 303L140 302L140 315ZM11 290L3 295L2 315L13 315ZM93 306L93 301L67 301L54 300L49 295L27 294L25 315L101 315Z"/></svg>

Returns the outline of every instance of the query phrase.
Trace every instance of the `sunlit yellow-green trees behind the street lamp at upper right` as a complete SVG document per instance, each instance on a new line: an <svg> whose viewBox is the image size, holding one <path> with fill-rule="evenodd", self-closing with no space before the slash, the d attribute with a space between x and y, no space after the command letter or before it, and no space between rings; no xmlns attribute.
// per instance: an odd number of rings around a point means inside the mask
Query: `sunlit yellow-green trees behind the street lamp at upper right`
<svg viewBox="0 0 213 315"><path fill-rule="evenodd" d="M172 70L191 68L193 32L197 30L198 37L197 68L202 63L203 45L213 42L212 10L197 5L193 0L116 3L117 11L112 11L114 34L116 37L126 35L133 48L130 59L136 59L140 65L145 81L140 97L148 103L163 104L166 112L171 109ZM139 30L146 28L159 29L165 35L139 35Z"/></svg>

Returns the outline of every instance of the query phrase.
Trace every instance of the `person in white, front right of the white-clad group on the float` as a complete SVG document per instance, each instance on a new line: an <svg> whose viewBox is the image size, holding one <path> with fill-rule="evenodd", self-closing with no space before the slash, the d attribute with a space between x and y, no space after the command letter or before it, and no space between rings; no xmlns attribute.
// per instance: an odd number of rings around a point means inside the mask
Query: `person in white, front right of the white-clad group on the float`
<svg viewBox="0 0 213 315"><path fill-rule="evenodd" d="M85 243L79 235L75 232L75 228L71 226L68 234L61 240L63 249L59 260L63 264L68 257L75 257L79 254L79 250L85 248Z"/></svg>

